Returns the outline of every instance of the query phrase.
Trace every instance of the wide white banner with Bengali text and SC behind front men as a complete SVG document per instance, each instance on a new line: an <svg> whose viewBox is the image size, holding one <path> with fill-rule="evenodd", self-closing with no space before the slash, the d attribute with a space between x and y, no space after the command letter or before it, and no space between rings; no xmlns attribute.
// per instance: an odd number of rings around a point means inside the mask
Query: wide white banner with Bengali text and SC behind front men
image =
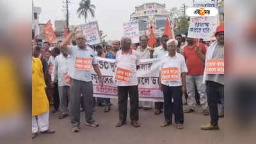
<svg viewBox="0 0 256 144"><path fill-rule="evenodd" d="M93 97L106 97L117 99L117 86L114 80L116 61L99 58L99 68L103 76L104 86L99 86L97 75L92 70ZM159 90L159 59L145 59L140 61L140 69L137 71L138 89L140 101L163 102L163 92Z"/></svg>

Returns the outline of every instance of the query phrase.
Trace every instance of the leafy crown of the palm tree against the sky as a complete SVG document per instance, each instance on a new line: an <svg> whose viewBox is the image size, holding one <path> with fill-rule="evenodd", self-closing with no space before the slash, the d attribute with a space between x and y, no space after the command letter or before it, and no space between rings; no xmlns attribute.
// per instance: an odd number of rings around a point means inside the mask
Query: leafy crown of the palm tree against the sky
<svg viewBox="0 0 256 144"><path fill-rule="evenodd" d="M81 2L79 3L79 8L77 9L78 18L80 18L81 15L83 15L85 23L86 23L86 19L87 19L89 13L90 13L91 17L94 18L94 16L95 16L94 10L95 10L95 5L91 4L90 0L81 0Z"/></svg>

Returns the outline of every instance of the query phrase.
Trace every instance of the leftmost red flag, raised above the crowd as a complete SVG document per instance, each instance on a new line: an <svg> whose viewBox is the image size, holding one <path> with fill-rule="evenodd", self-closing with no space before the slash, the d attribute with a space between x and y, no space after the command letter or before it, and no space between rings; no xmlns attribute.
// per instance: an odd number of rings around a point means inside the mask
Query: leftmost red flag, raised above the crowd
<svg viewBox="0 0 256 144"><path fill-rule="evenodd" d="M44 26L44 36L46 41L49 42L50 44L57 39L52 29L51 20L49 20Z"/></svg>

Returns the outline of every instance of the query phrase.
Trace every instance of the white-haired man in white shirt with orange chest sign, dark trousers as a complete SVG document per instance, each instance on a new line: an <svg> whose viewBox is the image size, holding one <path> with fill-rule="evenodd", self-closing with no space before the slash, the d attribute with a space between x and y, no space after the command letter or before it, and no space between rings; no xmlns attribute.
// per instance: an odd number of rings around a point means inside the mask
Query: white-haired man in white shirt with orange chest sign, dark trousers
<svg viewBox="0 0 256 144"><path fill-rule="evenodd" d="M182 93L186 93L186 72L188 69L184 56L176 51L178 41L171 39L166 44L168 54L165 54L162 59L159 70L159 88L164 93L165 119L161 127L172 124L172 113L174 113L177 129L183 129Z"/></svg>

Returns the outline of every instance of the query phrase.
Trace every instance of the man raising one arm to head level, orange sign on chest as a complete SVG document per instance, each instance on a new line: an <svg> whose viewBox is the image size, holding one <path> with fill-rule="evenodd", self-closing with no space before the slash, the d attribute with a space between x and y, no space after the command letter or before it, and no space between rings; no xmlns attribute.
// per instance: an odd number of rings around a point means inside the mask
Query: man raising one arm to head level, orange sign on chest
<svg viewBox="0 0 256 144"><path fill-rule="evenodd" d="M65 38L61 43L61 51L67 51L70 55L70 68L68 76L70 76L70 92L71 92L71 122L72 132L79 132L80 130L80 103L81 94L84 96L84 112L86 125L97 127L99 126L93 120L93 85L92 74L93 70L99 76L100 86L103 86L103 79L99 69L98 62L95 57L95 52L91 47L86 45L86 39L83 33L76 33L76 29ZM68 45L72 36L76 34L76 46Z"/></svg>

